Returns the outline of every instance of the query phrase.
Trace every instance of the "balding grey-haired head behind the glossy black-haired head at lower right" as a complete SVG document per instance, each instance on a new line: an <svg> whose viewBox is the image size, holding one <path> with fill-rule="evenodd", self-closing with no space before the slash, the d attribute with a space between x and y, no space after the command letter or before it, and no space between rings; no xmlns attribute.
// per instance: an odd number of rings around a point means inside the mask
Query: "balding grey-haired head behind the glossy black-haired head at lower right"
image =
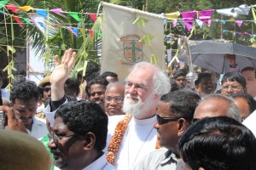
<svg viewBox="0 0 256 170"><path fill-rule="evenodd" d="M222 94L211 94L202 99L194 114L195 119L229 116L241 122L241 115L233 99Z"/></svg>

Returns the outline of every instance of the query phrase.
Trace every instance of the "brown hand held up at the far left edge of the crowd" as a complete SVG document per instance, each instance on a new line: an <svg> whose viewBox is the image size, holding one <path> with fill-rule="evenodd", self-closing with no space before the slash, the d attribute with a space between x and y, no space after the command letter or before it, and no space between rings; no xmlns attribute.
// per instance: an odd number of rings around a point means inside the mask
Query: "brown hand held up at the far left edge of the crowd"
<svg viewBox="0 0 256 170"><path fill-rule="evenodd" d="M16 119L15 113L11 107L0 106L0 110L3 110L6 114L5 120L3 121L3 127L8 125L8 130L15 130L21 133L27 133L26 127L24 126L23 122L20 119Z"/></svg>

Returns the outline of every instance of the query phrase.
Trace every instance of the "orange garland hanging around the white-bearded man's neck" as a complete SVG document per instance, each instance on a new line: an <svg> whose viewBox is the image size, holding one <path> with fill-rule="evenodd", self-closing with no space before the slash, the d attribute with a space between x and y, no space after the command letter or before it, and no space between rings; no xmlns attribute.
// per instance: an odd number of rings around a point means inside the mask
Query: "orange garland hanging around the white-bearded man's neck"
<svg viewBox="0 0 256 170"><path fill-rule="evenodd" d="M107 161L112 165L114 164L115 156L119 151L119 146L121 144L121 141L125 134L125 130L128 127L128 124L130 121L131 121L131 115L125 115L125 118L121 120L114 129L113 137L110 140L108 145L108 154L106 156ZM155 149L156 150L160 149L159 138L157 138L156 140Z"/></svg>

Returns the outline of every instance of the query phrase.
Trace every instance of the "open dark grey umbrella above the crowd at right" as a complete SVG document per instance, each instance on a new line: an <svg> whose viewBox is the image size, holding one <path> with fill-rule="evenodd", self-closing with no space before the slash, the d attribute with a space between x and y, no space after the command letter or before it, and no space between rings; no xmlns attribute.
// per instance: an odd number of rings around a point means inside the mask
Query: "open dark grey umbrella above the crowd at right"
<svg viewBox="0 0 256 170"><path fill-rule="evenodd" d="M251 48L239 43L201 42L190 47L191 59L194 65L218 73L230 71L230 63L224 54L236 54L236 64L240 71L252 66L256 68L256 48ZM178 58L187 62L187 57L179 55Z"/></svg>

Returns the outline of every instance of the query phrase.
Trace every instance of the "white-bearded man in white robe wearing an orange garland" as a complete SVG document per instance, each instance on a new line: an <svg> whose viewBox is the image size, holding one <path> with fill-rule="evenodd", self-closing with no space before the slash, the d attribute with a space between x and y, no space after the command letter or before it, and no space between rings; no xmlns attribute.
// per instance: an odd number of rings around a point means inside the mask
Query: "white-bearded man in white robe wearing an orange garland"
<svg viewBox="0 0 256 170"><path fill-rule="evenodd" d="M157 146L156 106L160 96L170 91L169 78L150 63L134 65L125 79L124 116L109 117L107 160L117 169L130 169ZM113 120L114 119L114 120ZM117 126L116 126L117 125Z"/></svg>

